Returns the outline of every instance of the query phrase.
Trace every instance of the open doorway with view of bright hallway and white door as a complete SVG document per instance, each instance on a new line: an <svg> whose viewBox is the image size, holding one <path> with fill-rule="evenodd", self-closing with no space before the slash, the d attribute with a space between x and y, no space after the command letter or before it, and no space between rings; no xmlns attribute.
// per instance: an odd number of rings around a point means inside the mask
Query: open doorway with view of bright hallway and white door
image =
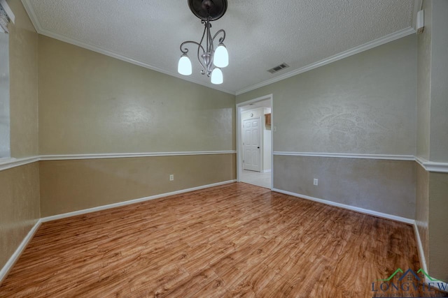
<svg viewBox="0 0 448 298"><path fill-rule="evenodd" d="M237 180L272 189L272 94L237 104Z"/></svg>

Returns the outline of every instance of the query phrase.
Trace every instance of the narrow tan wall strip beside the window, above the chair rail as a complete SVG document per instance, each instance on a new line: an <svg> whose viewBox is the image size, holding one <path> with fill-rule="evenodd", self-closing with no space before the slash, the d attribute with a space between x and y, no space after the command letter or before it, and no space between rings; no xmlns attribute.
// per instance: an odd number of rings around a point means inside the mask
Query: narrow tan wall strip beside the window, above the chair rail
<svg viewBox="0 0 448 298"><path fill-rule="evenodd" d="M7 0L15 15L9 29L10 147L15 158L38 154L38 34L20 0Z"/></svg>

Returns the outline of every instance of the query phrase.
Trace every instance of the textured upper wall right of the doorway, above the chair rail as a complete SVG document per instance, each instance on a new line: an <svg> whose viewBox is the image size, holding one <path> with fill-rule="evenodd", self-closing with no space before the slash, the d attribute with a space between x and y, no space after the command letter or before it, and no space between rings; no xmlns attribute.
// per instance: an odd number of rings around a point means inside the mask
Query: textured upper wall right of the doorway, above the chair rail
<svg viewBox="0 0 448 298"><path fill-rule="evenodd" d="M274 151L414 155L416 38L237 96L273 94Z"/></svg>

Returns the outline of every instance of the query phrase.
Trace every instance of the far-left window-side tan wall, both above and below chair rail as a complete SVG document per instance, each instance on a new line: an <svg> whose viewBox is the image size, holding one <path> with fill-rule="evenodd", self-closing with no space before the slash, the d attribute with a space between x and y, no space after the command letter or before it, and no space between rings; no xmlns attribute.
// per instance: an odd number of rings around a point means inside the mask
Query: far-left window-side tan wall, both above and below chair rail
<svg viewBox="0 0 448 298"><path fill-rule="evenodd" d="M15 14L9 24L10 146L15 158L38 154L38 36L19 0L8 0ZM0 268L40 217L38 163L0 171Z"/></svg>

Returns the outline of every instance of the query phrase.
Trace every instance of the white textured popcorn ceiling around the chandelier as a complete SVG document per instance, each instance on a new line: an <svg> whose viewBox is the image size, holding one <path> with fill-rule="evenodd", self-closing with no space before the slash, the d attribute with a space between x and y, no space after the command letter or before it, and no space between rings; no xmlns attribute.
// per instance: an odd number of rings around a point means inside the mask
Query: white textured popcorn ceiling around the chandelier
<svg viewBox="0 0 448 298"><path fill-rule="evenodd" d="M38 33L231 94L413 33L416 2L228 0L211 30L225 29L230 65L214 85L193 54L193 75L177 73L179 46L204 28L187 0L22 0ZM283 62L290 68L267 72Z"/></svg>

